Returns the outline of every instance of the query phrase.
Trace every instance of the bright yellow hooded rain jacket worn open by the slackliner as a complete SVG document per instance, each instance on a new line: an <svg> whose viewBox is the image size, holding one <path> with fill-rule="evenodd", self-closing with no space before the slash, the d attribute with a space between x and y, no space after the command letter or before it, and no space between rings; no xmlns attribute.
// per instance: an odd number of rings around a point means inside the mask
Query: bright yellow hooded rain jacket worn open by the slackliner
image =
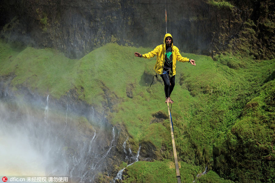
<svg viewBox="0 0 275 183"><path fill-rule="evenodd" d="M171 34L165 34L164 36L164 40L163 40L163 44L162 45L158 45L153 51L149 52L149 53L145 53L142 55L143 58L146 59L150 59L154 56L157 56L157 60L156 60L156 64L154 66L154 70L156 71L157 74L162 74L163 72L163 65L164 65L164 60L165 60L165 38L167 38L168 36L170 36L172 38L172 44L171 44L171 48L172 48L172 54L173 54L173 76L176 74L176 61L180 61L180 62L189 62L189 59L186 57L182 57L179 49L176 46L173 46L173 37Z"/></svg>

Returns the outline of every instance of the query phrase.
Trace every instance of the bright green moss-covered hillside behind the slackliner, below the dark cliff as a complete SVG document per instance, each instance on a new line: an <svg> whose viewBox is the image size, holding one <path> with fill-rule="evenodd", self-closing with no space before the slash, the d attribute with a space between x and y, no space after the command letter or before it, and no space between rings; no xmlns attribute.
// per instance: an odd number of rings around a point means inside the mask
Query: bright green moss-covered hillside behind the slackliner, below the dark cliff
<svg viewBox="0 0 275 183"><path fill-rule="evenodd" d="M0 75L12 76L10 87L18 94L24 86L59 99L74 90L79 100L125 128L133 151L142 145L141 156L152 161L127 167L123 182L175 182L163 82L154 79L149 87L155 58L134 57L135 51L151 50L107 44L73 60L51 49L1 41ZM171 95L182 181L274 182L275 59L182 56L197 64L177 62ZM206 166L209 172L196 177Z"/></svg>

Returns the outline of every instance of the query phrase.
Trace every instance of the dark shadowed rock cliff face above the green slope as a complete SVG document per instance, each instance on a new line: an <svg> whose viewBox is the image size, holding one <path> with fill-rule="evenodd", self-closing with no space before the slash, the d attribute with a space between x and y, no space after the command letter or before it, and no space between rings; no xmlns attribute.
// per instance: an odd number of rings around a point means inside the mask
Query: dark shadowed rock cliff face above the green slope
<svg viewBox="0 0 275 183"><path fill-rule="evenodd" d="M240 46L245 42L256 59L273 58L271 0L4 0L0 28L7 39L56 48L79 58L108 42L161 44L166 33L165 7L167 32L183 52L211 55L226 48L247 52ZM245 41L239 39L243 37ZM261 50L254 53L254 47Z"/></svg>

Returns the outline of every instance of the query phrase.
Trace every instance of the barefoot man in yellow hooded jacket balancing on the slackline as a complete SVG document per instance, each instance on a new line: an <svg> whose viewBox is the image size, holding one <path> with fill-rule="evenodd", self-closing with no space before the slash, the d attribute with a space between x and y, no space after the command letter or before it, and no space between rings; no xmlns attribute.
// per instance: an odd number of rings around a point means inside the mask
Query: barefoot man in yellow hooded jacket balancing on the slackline
<svg viewBox="0 0 275 183"><path fill-rule="evenodd" d="M165 34L163 44L158 45L153 51L141 55L138 52L134 53L135 56L150 59L157 56L154 70L157 74L160 74L164 83L165 103L174 103L171 100L170 95L175 86L175 74L176 74L176 61L190 62L196 66L196 63L192 59L182 57L179 49L173 45L173 38L171 34Z"/></svg>

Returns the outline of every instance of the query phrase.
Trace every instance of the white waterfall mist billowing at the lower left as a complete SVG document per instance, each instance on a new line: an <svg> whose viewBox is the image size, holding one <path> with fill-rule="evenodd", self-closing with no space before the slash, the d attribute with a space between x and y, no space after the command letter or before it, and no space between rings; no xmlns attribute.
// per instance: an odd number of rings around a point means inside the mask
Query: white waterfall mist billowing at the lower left
<svg viewBox="0 0 275 183"><path fill-rule="evenodd" d="M3 175L59 175L71 182L95 182L98 173L112 171L119 131L104 117L99 119L93 107L71 101L60 105L49 95L11 98L0 97Z"/></svg>

